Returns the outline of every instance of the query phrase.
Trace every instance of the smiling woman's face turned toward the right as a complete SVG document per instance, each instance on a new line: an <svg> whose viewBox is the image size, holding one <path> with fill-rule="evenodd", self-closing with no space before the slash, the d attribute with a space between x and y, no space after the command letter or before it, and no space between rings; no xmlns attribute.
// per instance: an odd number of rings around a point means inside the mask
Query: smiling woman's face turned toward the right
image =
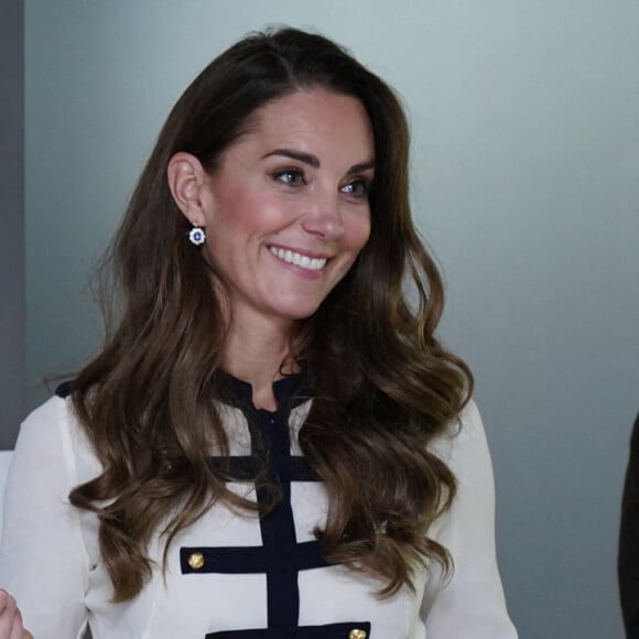
<svg viewBox="0 0 639 639"><path fill-rule="evenodd" d="M312 315L370 234L375 145L364 106L321 88L272 100L207 176L208 258L243 321Z"/></svg>

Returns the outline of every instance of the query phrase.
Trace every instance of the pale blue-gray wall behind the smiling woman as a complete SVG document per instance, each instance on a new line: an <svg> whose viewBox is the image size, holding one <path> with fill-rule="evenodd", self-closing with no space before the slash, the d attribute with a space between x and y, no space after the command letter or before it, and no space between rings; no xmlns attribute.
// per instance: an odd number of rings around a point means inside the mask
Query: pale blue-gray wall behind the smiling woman
<svg viewBox="0 0 639 639"><path fill-rule="evenodd" d="M522 638L620 638L619 495L639 408L630 0L30 1L30 404L43 375L96 347L87 273L170 106L273 22L315 25L405 98L415 215L446 273L442 335L477 376Z"/></svg>

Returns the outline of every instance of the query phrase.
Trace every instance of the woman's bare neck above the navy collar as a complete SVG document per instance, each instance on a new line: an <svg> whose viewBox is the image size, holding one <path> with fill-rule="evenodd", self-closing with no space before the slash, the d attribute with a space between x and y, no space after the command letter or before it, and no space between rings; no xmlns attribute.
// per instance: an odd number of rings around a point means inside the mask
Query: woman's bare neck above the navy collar
<svg viewBox="0 0 639 639"><path fill-rule="evenodd" d="M224 367L253 389L257 409L277 410L273 382L282 372L294 372L288 362L292 326L270 322L235 321L224 347Z"/></svg>

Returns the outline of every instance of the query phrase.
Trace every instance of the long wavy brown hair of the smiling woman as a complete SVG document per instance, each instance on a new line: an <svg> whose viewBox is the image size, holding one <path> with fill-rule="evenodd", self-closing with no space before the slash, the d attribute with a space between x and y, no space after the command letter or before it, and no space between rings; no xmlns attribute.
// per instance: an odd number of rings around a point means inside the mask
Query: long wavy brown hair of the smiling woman
<svg viewBox="0 0 639 639"><path fill-rule="evenodd" d="M186 89L109 256L117 325L72 393L104 472L71 500L99 517L115 600L136 596L150 576L154 531L166 559L175 534L216 501L257 509L208 464L212 450L228 453L215 402L226 326L210 267L185 240L166 166L186 151L214 172L257 108L313 86L359 99L376 147L370 239L294 343L314 385L300 443L329 496L316 534L329 561L380 577L382 595L410 585L430 559L451 565L427 530L450 507L455 478L427 445L458 415L473 379L434 337L443 286L411 220L405 116L393 91L335 43L281 29L241 40Z"/></svg>

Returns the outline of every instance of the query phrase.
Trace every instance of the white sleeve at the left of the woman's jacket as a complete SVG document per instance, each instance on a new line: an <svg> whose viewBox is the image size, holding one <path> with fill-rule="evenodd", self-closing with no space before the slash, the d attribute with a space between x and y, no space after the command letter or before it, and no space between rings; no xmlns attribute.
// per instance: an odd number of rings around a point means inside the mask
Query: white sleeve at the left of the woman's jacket
<svg viewBox="0 0 639 639"><path fill-rule="evenodd" d="M68 502L78 483L65 401L53 398L22 424L4 492L0 587L36 639L77 639L86 628L88 560Z"/></svg>

